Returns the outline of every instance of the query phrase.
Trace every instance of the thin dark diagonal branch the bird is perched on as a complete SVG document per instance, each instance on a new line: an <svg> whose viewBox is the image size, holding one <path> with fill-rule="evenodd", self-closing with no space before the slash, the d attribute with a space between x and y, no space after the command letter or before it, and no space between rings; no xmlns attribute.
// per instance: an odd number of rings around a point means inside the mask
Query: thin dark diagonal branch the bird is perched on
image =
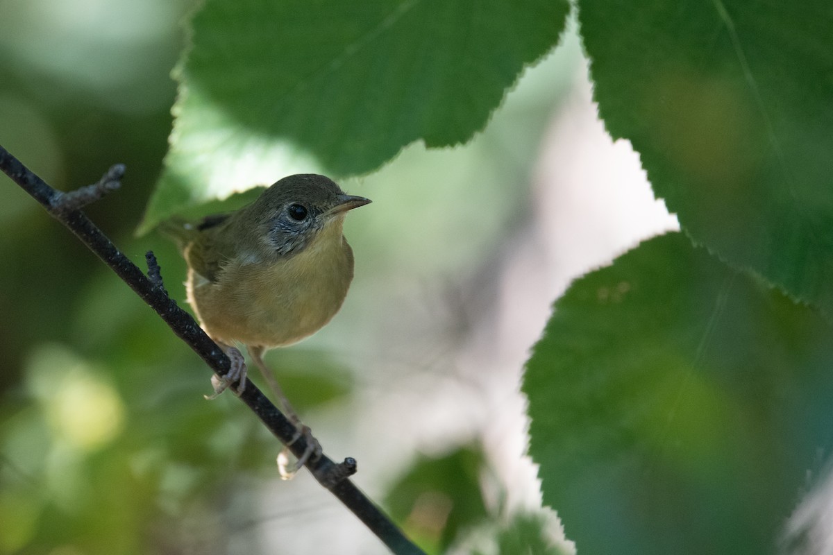
<svg viewBox="0 0 833 555"><path fill-rule="evenodd" d="M156 257L147 255L148 277L137 265L112 244L112 241L99 230L79 209L89 202L96 201L107 191L113 191L120 185L124 166L112 166L97 184L82 187L71 193L56 191L40 177L29 171L20 161L0 146L0 170L12 181L21 186L35 200L72 231L84 245L92 250L105 264L116 272L127 285L142 297L147 305L165 320L171 330L185 341L217 375L226 374L231 361L216 343L210 339L197 322L177 303L167 296L162 287L162 275ZM275 434L283 444L288 445L296 457L300 457L307 448L302 437L295 438L296 429L267 397L257 389L255 384L247 381L246 389L240 399L248 405L262 423ZM295 441L293 441L295 439ZM347 458L343 463L334 463L323 456L306 464L318 483L329 489L352 513L362 520L393 553L424 553L417 548L382 511L377 508L349 479L356 472L357 463Z"/></svg>

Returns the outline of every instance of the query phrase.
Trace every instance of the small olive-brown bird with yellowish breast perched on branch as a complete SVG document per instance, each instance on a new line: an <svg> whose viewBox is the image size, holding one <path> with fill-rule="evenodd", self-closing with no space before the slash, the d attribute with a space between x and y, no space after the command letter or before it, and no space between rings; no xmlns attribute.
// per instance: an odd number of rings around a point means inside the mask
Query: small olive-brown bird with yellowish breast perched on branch
<svg viewBox="0 0 833 555"><path fill-rule="evenodd" d="M301 434L307 452L291 475L321 446L301 424L272 372L267 349L296 343L326 325L342 307L353 279L353 253L342 232L347 211L368 204L346 195L325 176L284 177L236 212L197 224L168 221L162 232L177 241L188 266L187 300L202 329L232 359L212 377L214 399L231 384L246 384L246 365L232 344L247 346Z"/></svg>

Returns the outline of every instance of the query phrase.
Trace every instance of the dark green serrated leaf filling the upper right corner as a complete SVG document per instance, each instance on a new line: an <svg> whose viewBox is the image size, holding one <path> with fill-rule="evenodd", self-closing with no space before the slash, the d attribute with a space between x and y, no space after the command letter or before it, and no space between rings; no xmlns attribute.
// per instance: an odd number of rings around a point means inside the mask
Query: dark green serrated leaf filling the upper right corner
<svg viewBox="0 0 833 555"><path fill-rule="evenodd" d="M683 228L833 315L833 4L578 6L607 129Z"/></svg>

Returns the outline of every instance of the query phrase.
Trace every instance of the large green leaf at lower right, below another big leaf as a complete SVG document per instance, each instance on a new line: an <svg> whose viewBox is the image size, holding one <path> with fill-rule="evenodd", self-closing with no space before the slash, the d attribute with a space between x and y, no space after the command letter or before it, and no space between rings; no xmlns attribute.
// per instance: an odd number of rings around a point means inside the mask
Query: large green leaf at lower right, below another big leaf
<svg viewBox="0 0 833 555"><path fill-rule="evenodd" d="M679 233L576 281L523 390L578 553L774 553L833 448L831 332Z"/></svg>

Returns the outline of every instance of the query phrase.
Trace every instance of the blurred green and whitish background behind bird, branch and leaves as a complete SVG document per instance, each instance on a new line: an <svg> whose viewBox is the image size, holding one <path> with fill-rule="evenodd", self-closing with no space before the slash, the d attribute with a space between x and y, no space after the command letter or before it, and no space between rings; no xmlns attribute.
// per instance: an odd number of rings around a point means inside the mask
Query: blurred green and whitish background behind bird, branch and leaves
<svg viewBox="0 0 833 555"><path fill-rule="evenodd" d="M87 214L138 265L154 250L181 305L184 262L134 230L193 3L0 2L0 144L63 190L125 163ZM471 143L342 188L373 200L347 219L347 302L267 362L423 548L497 553L541 504L518 389L551 302L676 219L597 120L574 24ZM277 478L277 441L202 398L210 371L86 247L5 176L0 195L0 553L387 553L310 476Z"/></svg>

